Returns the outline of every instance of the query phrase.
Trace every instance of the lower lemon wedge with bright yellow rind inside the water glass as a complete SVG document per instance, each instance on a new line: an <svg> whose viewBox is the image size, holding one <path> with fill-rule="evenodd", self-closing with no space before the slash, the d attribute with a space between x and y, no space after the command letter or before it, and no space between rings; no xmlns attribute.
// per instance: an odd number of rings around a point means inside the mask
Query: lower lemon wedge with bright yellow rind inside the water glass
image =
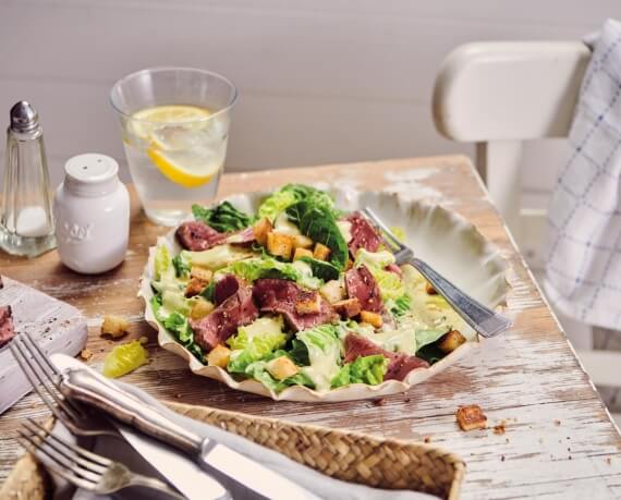
<svg viewBox="0 0 621 500"><path fill-rule="evenodd" d="M183 187L198 187L207 184L222 167L222 162L210 161L196 163L197 158L193 151L167 153L150 147L147 156L169 180Z"/></svg>

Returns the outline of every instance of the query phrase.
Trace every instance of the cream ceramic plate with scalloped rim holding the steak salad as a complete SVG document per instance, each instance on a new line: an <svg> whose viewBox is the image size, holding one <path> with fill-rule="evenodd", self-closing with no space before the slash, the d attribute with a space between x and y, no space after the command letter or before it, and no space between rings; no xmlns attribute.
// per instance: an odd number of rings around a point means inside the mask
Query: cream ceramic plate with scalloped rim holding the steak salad
<svg viewBox="0 0 621 500"><path fill-rule="evenodd" d="M414 248L417 256L428 261L438 271L484 304L490 307L504 305L508 291L504 259L498 249L486 242L474 225L461 216L437 205L404 202L395 194L344 192L330 187L327 191L336 196L339 208L353 211L368 206L389 227L404 228L407 234L407 244ZM228 199L239 209L255 214L261 199L268 194L267 192L248 193L231 196ZM158 244L160 243L166 243L173 255L181 251L175 241L174 231L159 239ZM411 371L403 381L387 380L378 386L354 383L328 392L317 392L303 386L293 386L276 393L256 380L238 381L222 368L203 365L178 343L165 328L158 325L149 306L149 301L153 297L149 283L153 279L154 258L155 247L151 247L141 281L139 295L146 303L145 319L158 330L159 344L186 359L194 374L220 380L240 391L266 395L273 400L306 402L379 398L405 392L412 386L433 377L478 346L478 341L468 341L431 367L417 368Z"/></svg>

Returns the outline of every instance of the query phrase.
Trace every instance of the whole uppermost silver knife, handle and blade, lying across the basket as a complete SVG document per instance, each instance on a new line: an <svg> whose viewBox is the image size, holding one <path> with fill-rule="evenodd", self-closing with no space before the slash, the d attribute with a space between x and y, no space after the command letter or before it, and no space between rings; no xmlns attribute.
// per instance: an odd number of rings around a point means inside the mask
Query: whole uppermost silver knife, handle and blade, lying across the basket
<svg viewBox="0 0 621 500"><path fill-rule="evenodd" d="M170 419L148 402L88 368L65 368L60 389L118 420L190 454L236 499L317 499L288 478L219 442L203 438Z"/></svg>

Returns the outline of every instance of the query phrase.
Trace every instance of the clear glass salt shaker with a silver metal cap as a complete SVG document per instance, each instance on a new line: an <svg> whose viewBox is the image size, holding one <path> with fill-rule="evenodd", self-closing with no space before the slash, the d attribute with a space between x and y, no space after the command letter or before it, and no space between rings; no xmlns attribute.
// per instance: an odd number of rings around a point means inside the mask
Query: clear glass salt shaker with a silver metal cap
<svg viewBox="0 0 621 500"><path fill-rule="evenodd" d="M0 247L27 257L56 247L44 131L25 100L11 108L7 130Z"/></svg>

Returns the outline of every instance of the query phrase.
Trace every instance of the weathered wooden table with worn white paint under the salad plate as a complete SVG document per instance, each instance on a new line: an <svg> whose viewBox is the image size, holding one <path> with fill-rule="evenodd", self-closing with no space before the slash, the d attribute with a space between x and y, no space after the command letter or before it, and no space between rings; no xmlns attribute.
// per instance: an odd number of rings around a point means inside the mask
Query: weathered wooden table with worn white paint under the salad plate
<svg viewBox="0 0 621 500"><path fill-rule="evenodd" d="M166 230L146 221L135 198L130 251L119 269L98 277L78 276L63 268L56 253L36 260L2 256L0 269L84 312L89 321L88 347L96 353L93 365L101 364L113 343L99 338L102 315L129 317L130 338L150 339L151 363L125 380L156 397L386 437L427 439L466 461L463 498L621 498L621 436L470 160L451 156L228 174L221 194L318 181L399 192L468 218L511 265L509 308L515 314L514 329L483 342L483 349L468 359L381 404L273 402L192 376L182 359L158 349L155 332L143 320L136 291L147 248ZM472 403L486 412L487 430L462 432L455 425L458 406ZM20 420L44 414L31 394L0 417L0 477L7 476L21 453L13 438Z"/></svg>

